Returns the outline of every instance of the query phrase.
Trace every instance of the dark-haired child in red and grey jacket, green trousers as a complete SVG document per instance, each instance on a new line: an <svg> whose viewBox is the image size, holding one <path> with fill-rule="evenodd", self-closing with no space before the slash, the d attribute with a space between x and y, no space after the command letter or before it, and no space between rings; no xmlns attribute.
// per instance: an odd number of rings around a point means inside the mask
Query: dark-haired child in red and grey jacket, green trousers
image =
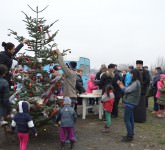
<svg viewBox="0 0 165 150"><path fill-rule="evenodd" d="M106 124L102 132L109 132L109 128L111 126L111 112L114 103L114 94L112 90L113 90L112 85L107 85L105 89L105 93L103 94L101 99L101 101L103 102L103 109L105 111L105 119L106 119Z"/></svg>

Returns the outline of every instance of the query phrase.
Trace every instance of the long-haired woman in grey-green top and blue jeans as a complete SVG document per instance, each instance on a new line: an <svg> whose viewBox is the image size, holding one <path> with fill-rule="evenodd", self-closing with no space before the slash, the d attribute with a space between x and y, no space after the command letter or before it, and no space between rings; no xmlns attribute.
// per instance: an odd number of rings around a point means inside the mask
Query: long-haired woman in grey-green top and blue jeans
<svg viewBox="0 0 165 150"><path fill-rule="evenodd" d="M131 71L132 83L125 87L122 81L118 81L119 87L124 92L124 122L127 128L127 135L123 136L122 141L132 141L134 136L134 108L139 104L141 85L140 85L140 74L137 70Z"/></svg>

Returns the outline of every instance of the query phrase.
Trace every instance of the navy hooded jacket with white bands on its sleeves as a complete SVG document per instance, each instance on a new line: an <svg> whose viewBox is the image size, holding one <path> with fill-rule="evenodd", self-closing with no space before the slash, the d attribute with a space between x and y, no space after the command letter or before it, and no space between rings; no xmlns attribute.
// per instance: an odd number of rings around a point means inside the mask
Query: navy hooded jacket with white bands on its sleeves
<svg viewBox="0 0 165 150"><path fill-rule="evenodd" d="M19 112L15 115L11 123L12 129L14 130L16 127L18 133L28 133L29 129L33 133L36 133L33 120L28 114L29 105L26 101L19 101L18 103Z"/></svg>

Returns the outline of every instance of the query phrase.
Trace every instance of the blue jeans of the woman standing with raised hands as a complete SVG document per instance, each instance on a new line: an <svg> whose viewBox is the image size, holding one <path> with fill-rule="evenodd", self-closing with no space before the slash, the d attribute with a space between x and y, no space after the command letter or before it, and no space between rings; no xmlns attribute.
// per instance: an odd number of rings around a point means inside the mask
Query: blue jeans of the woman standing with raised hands
<svg viewBox="0 0 165 150"><path fill-rule="evenodd" d="M124 122L127 128L127 136L133 137L134 135L134 115L133 108L125 106L124 109Z"/></svg>

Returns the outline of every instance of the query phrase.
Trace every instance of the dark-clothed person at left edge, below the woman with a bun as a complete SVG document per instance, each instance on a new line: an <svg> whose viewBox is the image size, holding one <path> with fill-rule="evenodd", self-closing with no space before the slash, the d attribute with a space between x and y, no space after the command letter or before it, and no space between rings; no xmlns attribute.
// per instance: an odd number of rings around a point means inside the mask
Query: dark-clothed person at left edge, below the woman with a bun
<svg viewBox="0 0 165 150"><path fill-rule="evenodd" d="M5 65L0 64L0 125L6 125L8 122L4 121L4 118L7 116L10 111L10 103L9 103L9 84L7 80L3 77L7 73L7 67Z"/></svg>

